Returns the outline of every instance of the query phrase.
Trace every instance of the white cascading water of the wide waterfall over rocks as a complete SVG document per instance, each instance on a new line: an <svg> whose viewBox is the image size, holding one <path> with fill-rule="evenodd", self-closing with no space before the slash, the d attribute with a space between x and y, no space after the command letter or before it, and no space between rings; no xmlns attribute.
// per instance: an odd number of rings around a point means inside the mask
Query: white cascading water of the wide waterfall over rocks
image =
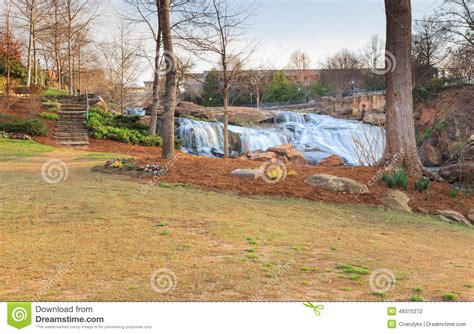
<svg viewBox="0 0 474 334"><path fill-rule="evenodd" d="M281 112L274 121L274 125L264 128L229 126L233 138L231 149L240 154L291 143L304 153L310 163L317 163L334 154L354 166L366 164L360 159L361 146L371 151L373 159L382 157L385 133L380 127L297 112ZM184 151L204 156L222 155L224 138L221 123L186 118L178 118L177 122L177 136L184 142Z"/></svg>

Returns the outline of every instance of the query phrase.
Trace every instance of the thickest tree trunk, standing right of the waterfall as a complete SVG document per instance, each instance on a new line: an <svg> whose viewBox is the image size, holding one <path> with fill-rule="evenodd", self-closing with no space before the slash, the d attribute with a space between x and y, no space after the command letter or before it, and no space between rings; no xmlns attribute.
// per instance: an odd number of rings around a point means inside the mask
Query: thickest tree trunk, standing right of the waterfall
<svg viewBox="0 0 474 334"><path fill-rule="evenodd" d="M387 63L387 145L384 161L403 167L412 178L422 175L413 119L413 83L411 70L410 0L385 0L387 16L386 53L395 64ZM387 57L389 59L389 57Z"/></svg>

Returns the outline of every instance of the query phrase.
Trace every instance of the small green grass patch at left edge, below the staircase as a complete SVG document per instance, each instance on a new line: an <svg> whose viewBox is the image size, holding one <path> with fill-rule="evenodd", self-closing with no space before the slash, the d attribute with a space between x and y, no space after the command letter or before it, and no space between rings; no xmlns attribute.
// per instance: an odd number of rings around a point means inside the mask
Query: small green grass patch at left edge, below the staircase
<svg viewBox="0 0 474 334"><path fill-rule="evenodd" d="M52 151L52 147L38 144L32 140L0 139L0 161L32 157Z"/></svg>

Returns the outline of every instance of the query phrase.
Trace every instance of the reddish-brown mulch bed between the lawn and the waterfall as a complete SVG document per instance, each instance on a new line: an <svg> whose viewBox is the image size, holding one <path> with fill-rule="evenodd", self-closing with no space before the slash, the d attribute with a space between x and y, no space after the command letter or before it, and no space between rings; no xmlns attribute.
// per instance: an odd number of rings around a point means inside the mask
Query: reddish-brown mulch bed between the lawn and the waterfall
<svg viewBox="0 0 474 334"><path fill-rule="evenodd" d="M242 161L238 159L213 159L196 157L180 152L175 161L161 159L161 148L141 147L127 145L113 141L91 139L89 151L115 152L135 156L142 164L168 164L168 173L159 179L159 182L192 184L206 190L224 190L241 195L270 195L280 197L302 198L307 200L341 203L381 205L379 198L390 191L379 182L372 182L369 186L370 194L333 193L321 188L307 185L304 180L316 173L326 173L335 176L344 176L368 184L376 179L378 167L322 167L288 165L288 170L297 172L296 177L288 176L276 184L269 184L261 179L253 180L233 177L230 173L239 168L258 168L261 162ZM150 181L152 177L150 177ZM142 178L143 180L143 178ZM410 188L413 188L411 185ZM405 193L411 198L410 206L421 212L434 212L436 210L455 210L464 215L469 213L474 206L472 195L465 196L462 192L456 198L449 194L448 184L433 183L429 192L419 193L408 190Z"/></svg>

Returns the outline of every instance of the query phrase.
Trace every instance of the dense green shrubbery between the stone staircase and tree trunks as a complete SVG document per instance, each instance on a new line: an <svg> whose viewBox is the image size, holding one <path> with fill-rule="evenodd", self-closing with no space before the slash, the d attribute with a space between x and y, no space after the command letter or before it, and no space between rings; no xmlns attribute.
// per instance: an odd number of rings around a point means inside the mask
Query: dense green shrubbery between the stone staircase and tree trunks
<svg viewBox="0 0 474 334"><path fill-rule="evenodd" d="M96 139L110 139L142 146L160 146L161 137L148 135L148 127L139 123L139 120L138 116L114 116L98 108L92 108L89 114L92 137Z"/></svg>

